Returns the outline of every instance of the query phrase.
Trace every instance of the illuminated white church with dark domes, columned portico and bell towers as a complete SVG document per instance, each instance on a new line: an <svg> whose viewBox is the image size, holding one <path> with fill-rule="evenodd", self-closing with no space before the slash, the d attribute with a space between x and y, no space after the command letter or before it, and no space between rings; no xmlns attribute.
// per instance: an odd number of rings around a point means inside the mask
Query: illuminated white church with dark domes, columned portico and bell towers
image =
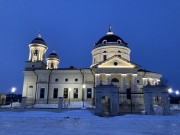
<svg viewBox="0 0 180 135"><path fill-rule="evenodd" d="M111 26L92 47L89 68L61 68L58 54L52 52L46 58L48 46L40 34L32 40L23 71L22 96L27 98L27 104L58 104L58 97L62 97L64 104L85 102L96 106L96 88L109 86L104 90L106 93L112 94L117 88L118 110L127 110L130 105L131 109L143 110L143 87L158 85L162 75L131 62L128 44L113 33ZM105 104L101 111L112 106L106 95L100 97L101 104Z"/></svg>

